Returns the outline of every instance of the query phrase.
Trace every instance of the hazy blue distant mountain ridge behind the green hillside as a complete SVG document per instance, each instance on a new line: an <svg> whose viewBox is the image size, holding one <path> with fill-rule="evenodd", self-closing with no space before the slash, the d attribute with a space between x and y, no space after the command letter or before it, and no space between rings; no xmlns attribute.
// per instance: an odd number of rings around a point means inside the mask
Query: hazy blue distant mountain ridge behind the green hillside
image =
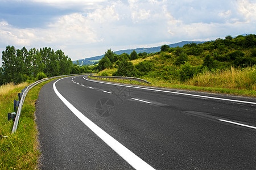
<svg viewBox="0 0 256 170"><path fill-rule="evenodd" d="M181 42L177 42L175 44L169 44L169 46L170 46L170 48L172 48L172 47L175 48L177 46L182 47L183 45L189 44L189 43L192 43L192 42L196 43L196 44L201 44L201 43L204 43L205 41L181 41ZM131 52L133 52L133 50L135 50L135 52L137 52L137 54L138 53L143 53L143 52L146 52L146 53L150 54L150 53L160 52L160 48L161 48L161 46L156 46L156 47L151 47L151 48L127 49L127 50L118 50L114 53L118 54L118 55L120 55L122 53L127 53L127 54L130 55ZM82 66L82 65L92 65L94 62L100 61L100 59L102 57L104 57L104 54L101 55L101 56L79 59L79 60L73 61L73 63L77 63L77 61L78 61L80 66Z"/></svg>

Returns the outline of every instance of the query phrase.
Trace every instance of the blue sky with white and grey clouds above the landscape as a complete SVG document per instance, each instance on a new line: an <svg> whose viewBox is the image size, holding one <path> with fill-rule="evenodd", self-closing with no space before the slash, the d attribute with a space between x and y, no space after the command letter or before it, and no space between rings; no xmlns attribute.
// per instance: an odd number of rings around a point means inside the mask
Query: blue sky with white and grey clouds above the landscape
<svg viewBox="0 0 256 170"><path fill-rule="evenodd" d="M1 52L48 46L76 60L243 33L256 33L256 0L0 0Z"/></svg>

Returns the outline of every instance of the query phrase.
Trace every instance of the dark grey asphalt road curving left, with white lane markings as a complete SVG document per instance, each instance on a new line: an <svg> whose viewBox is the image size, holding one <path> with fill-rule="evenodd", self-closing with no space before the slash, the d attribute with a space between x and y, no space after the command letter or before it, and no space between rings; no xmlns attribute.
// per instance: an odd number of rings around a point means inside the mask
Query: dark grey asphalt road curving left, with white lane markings
<svg viewBox="0 0 256 170"><path fill-rule="evenodd" d="M256 169L255 97L148 88L84 76L44 85L40 168Z"/></svg>

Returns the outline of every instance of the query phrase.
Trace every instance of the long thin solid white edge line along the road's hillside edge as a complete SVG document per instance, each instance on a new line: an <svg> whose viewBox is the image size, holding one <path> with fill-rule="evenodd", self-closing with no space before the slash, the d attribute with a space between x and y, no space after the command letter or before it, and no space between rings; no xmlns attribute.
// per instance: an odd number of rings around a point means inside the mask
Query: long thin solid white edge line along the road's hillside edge
<svg viewBox="0 0 256 170"><path fill-rule="evenodd" d="M122 84L113 84L113 83L106 83L106 82L98 82L98 81L96 81L96 80L89 80L89 79L86 79L85 76L84 76L83 78L84 78L85 80L90 81L90 82L97 82L97 83L110 84L110 85L114 85L114 86L123 86L123 87L130 87L130 88L139 88L139 89L142 89L142 90L151 90L151 91L167 92L167 93L170 93L170 94L178 94L178 95L187 95L187 96L202 97L202 98L207 98L207 99L216 99L216 100L233 101L233 102L238 102L238 103L256 104L256 102L251 102L251 101L224 99L224 98L219 98L219 97L201 96L201 95L185 94L185 93L173 92L173 91L158 90L158 89L152 89L152 88L134 87L134 86L127 86L127 85L122 85Z"/></svg>

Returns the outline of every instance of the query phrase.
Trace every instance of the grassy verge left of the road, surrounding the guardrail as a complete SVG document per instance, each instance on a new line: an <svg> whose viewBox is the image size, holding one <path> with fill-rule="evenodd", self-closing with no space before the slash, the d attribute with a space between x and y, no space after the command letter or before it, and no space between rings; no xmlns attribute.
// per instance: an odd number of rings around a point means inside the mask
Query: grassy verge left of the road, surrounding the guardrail
<svg viewBox="0 0 256 170"><path fill-rule="evenodd" d="M13 100L18 100L18 93L28 83L17 86L7 84L0 88L0 169L37 169L40 151L34 116L35 101L46 83L40 83L28 92L15 134L11 134L13 121L7 120L7 113L14 112Z"/></svg>

